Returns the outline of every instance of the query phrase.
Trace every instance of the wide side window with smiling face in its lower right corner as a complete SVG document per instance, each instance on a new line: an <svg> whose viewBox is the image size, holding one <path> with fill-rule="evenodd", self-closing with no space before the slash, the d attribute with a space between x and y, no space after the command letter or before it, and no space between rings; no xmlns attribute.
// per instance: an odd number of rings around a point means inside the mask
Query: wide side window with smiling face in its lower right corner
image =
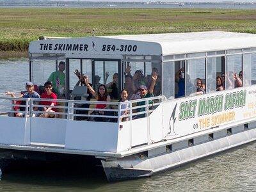
<svg viewBox="0 0 256 192"><path fill-rule="evenodd" d="M186 96L205 93L205 58L186 63Z"/></svg>

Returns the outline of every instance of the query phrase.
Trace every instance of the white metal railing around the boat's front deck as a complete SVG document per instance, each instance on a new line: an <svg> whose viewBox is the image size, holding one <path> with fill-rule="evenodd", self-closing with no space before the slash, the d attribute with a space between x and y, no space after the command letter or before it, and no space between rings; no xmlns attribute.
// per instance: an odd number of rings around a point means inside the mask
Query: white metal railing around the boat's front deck
<svg viewBox="0 0 256 192"><path fill-rule="evenodd" d="M126 102L103 102L88 100L38 99L22 97L0 97L4 110L0 115L15 116L22 113L22 117L38 117L46 113L43 108L53 108L54 112L47 112L55 118L67 120L90 120L104 122L122 122L149 116L162 102L163 97L129 100ZM43 105L40 102L57 102L57 105ZM99 107L101 105L101 108ZM106 106L106 108L102 108Z"/></svg>

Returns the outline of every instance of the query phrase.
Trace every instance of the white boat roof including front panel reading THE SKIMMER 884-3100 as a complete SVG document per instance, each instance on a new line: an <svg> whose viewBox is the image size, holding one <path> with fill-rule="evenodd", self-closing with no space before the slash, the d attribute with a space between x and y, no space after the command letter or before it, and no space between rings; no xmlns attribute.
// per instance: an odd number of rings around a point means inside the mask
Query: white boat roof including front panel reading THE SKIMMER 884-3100
<svg viewBox="0 0 256 192"><path fill-rule="evenodd" d="M108 45L110 45L110 49L108 49ZM113 45L115 45L115 47L113 47ZM207 31L195 33L37 40L29 44L29 52L106 55L170 55L248 47L256 47L256 35L248 33Z"/></svg>

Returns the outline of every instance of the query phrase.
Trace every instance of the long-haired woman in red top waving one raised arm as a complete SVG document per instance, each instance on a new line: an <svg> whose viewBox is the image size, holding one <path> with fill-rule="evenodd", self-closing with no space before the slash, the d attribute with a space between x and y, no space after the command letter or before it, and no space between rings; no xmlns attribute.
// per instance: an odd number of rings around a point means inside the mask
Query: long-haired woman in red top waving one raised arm
<svg viewBox="0 0 256 192"><path fill-rule="evenodd" d="M84 77L84 83L86 84L87 88L90 90L92 95L97 99L97 101L106 101L110 102L110 97L108 95L108 91L106 89L106 86L104 84L100 84L97 92L93 90L92 86L89 84L89 77L85 76ZM106 109L108 108L108 105L106 104L96 104L96 109ZM96 111L95 113L99 113L99 115L104 115L104 111ZM96 121L103 121L102 118L96 118Z"/></svg>

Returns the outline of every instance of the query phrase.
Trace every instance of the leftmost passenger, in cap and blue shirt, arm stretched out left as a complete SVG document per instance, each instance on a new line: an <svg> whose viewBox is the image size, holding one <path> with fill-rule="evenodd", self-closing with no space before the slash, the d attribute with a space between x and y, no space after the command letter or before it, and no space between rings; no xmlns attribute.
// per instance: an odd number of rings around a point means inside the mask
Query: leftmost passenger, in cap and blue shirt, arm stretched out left
<svg viewBox="0 0 256 192"><path fill-rule="evenodd" d="M34 84L32 82L27 82L26 83L26 90L27 90L28 93L24 93L21 96L22 98L40 98L40 95L35 92ZM15 95L11 92L6 92L6 95L10 95L11 97L15 97ZM16 105L25 105L26 101L25 100L17 100L15 102L15 104ZM35 102L35 104L38 104L38 102ZM24 107L20 108L18 106L15 106L14 110L15 111L25 111L25 108ZM37 108L34 108L34 110L37 110ZM24 116L24 112L15 113L15 116L16 117L22 117L22 116Z"/></svg>

